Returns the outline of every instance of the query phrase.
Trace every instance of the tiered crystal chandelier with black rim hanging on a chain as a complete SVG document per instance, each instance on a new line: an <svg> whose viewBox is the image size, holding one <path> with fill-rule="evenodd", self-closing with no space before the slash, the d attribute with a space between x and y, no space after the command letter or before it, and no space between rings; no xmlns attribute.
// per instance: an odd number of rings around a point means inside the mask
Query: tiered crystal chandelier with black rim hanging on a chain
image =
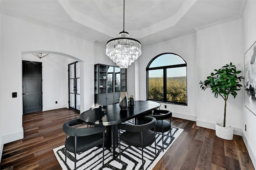
<svg viewBox="0 0 256 170"><path fill-rule="evenodd" d="M128 68L141 55L140 41L129 38L123 29L118 38L107 42L106 55L120 68Z"/></svg>

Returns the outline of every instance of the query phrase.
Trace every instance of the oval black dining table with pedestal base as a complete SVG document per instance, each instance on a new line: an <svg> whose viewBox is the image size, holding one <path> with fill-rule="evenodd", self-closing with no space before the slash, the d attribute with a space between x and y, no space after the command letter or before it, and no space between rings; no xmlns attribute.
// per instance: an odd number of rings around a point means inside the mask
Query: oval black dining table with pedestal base
<svg viewBox="0 0 256 170"><path fill-rule="evenodd" d="M95 126L106 126L105 147L111 148L113 159L116 156L116 146L118 146L117 124L124 123L140 115L152 113L160 108L160 103L154 101L136 100L133 107L120 109L119 103L108 106L97 106L80 114L80 119Z"/></svg>

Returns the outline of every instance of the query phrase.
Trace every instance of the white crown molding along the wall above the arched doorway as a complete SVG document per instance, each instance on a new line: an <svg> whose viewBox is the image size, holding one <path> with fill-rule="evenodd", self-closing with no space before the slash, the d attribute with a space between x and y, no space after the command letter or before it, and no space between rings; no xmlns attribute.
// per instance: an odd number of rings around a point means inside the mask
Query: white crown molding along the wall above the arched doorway
<svg viewBox="0 0 256 170"><path fill-rule="evenodd" d="M90 37L86 37L86 36L84 36L84 35L80 35L80 34L77 34L77 33L73 33L73 32L71 32L71 31L68 31L68 30L66 30L66 29L62 29L62 28L60 28L60 27L56 27L56 26L53 26L53 25L50 25L50 24L47 24L47 23L44 23L44 22L41 22L41 21L34 20L34 19L32 19L32 18L28 18L28 17L26 17L26 16L17 14L17 13L15 13L15 12L10 12L10 11L8 11L8 10L2 10L1 13L2 13L2 14L9 15L9 16L16 17L16 18L19 18L19 19L22 19L22 20L30 21L30 22L32 22L32 23L36 23L36 24L42 25L42 26L44 26L44 27L56 29L56 30L62 31L62 32L64 32L64 33L68 33L68 34L71 34L71 35L75 35L75 36L77 36L77 37L80 37L80 38L82 38L82 39L86 39L86 40L88 40L88 41L92 41L92 42L95 42L95 41L96 41L95 39L92 39L92 38L90 38Z"/></svg>

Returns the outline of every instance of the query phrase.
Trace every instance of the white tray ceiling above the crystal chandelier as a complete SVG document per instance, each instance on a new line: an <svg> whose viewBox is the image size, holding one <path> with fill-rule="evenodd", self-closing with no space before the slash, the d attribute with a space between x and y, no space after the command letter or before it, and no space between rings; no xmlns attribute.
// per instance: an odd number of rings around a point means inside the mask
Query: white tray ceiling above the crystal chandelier
<svg viewBox="0 0 256 170"><path fill-rule="evenodd" d="M245 4L246 0L126 0L125 31L146 47L241 17ZM103 46L123 30L123 0L1 0L1 12Z"/></svg>

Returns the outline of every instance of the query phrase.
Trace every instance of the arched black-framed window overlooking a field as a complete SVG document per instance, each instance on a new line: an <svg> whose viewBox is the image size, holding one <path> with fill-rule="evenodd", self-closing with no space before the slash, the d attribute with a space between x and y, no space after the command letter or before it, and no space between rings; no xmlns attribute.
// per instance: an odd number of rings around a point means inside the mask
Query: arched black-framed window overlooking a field
<svg viewBox="0 0 256 170"><path fill-rule="evenodd" d="M146 68L147 100L187 105L187 63L177 54L163 53Z"/></svg>

